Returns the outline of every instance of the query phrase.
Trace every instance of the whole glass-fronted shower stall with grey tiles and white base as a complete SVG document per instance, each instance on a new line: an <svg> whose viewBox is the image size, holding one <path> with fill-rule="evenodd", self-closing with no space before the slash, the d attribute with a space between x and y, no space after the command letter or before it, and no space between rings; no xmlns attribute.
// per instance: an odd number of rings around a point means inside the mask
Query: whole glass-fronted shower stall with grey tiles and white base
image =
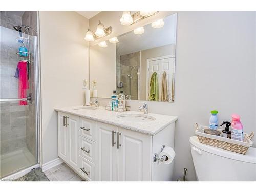
<svg viewBox="0 0 256 192"><path fill-rule="evenodd" d="M37 12L1 11L0 179L39 163Z"/></svg>

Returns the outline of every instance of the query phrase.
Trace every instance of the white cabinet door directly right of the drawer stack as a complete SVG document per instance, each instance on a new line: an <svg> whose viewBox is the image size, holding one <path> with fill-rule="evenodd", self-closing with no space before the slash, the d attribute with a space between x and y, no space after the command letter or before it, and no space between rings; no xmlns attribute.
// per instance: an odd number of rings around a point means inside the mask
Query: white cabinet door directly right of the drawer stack
<svg viewBox="0 0 256 192"><path fill-rule="evenodd" d="M116 126L96 122L96 181L117 181L116 134Z"/></svg>

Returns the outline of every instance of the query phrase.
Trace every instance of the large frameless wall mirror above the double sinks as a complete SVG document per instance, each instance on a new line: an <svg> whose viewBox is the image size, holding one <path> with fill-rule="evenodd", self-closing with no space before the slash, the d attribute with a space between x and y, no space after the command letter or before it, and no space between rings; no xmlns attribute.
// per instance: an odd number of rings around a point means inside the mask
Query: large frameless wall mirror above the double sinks
<svg viewBox="0 0 256 192"><path fill-rule="evenodd" d="M131 31L107 47L90 47L90 89L111 98L113 90L132 100L174 102L177 14L157 26ZM157 28L156 28L157 27Z"/></svg>

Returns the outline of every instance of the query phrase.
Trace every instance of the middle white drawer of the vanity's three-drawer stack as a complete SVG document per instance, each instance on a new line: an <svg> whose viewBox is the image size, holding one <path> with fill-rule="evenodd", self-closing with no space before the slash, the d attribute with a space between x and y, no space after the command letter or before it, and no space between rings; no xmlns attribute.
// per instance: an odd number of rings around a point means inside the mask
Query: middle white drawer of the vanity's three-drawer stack
<svg viewBox="0 0 256 192"><path fill-rule="evenodd" d="M95 163L96 143L94 141L79 136L79 155Z"/></svg>

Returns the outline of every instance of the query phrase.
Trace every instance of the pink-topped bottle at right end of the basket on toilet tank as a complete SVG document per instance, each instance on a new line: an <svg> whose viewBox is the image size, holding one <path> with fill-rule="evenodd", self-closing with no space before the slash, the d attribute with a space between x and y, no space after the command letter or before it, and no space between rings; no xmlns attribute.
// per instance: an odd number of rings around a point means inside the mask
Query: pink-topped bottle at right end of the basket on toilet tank
<svg viewBox="0 0 256 192"><path fill-rule="evenodd" d="M243 141L243 125L238 114L232 114L231 139Z"/></svg>

